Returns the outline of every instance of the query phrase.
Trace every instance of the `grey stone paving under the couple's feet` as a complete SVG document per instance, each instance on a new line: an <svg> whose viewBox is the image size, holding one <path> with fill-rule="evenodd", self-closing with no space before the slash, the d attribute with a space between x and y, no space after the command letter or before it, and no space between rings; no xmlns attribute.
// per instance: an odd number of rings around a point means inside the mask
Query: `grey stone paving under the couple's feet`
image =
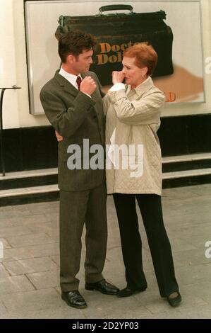
<svg viewBox="0 0 211 333"><path fill-rule="evenodd" d="M0 242L4 244L0 318L211 318L211 258L205 257L205 242L211 241L211 185L164 190L162 202L183 296L179 307L171 308L159 297L141 218L147 290L124 299L85 290L83 247L80 292L88 308L68 307L59 289L59 203L32 203L0 208ZM111 197L108 220L104 276L123 288L119 229Z"/></svg>

